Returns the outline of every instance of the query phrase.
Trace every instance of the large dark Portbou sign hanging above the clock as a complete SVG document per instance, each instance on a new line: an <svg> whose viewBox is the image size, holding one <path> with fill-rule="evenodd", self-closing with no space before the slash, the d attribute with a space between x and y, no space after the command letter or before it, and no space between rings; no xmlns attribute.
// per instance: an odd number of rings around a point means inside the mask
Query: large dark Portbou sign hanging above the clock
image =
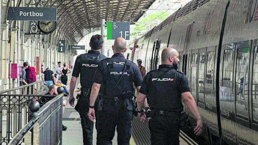
<svg viewBox="0 0 258 145"><path fill-rule="evenodd" d="M9 7L7 20L57 21L57 8Z"/></svg>

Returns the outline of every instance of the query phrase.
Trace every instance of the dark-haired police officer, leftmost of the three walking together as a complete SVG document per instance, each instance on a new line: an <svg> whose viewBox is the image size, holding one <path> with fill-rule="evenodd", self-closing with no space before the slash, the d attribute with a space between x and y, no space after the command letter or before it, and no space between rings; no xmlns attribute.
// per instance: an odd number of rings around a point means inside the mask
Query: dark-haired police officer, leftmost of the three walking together
<svg viewBox="0 0 258 145"><path fill-rule="evenodd" d="M89 43L91 50L88 53L79 55L74 64L72 79L70 83L70 98L69 103L74 106L74 87L76 85L77 77L80 75L81 94L75 106L81 117L83 144L92 145L93 122L87 116L89 108L89 95L92 86L92 79L94 77L96 68L99 62L106 59L106 56L100 54L103 46L103 38L101 35L93 35ZM100 92L101 93L101 92ZM96 127L97 128L97 127Z"/></svg>

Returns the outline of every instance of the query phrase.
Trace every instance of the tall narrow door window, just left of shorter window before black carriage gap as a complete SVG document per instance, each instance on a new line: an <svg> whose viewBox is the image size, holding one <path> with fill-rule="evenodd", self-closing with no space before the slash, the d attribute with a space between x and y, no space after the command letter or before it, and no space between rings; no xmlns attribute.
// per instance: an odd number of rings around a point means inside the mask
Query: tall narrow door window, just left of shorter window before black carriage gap
<svg viewBox="0 0 258 145"><path fill-rule="evenodd" d="M206 52L199 53L198 68L198 102L204 104L204 73Z"/></svg>

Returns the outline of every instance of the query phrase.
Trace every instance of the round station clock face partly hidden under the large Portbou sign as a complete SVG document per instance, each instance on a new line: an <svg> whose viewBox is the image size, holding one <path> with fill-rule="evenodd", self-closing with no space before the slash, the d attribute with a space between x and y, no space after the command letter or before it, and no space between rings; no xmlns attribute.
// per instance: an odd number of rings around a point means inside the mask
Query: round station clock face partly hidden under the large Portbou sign
<svg viewBox="0 0 258 145"><path fill-rule="evenodd" d="M56 28L55 21L38 21L38 28L45 34L52 33Z"/></svg>

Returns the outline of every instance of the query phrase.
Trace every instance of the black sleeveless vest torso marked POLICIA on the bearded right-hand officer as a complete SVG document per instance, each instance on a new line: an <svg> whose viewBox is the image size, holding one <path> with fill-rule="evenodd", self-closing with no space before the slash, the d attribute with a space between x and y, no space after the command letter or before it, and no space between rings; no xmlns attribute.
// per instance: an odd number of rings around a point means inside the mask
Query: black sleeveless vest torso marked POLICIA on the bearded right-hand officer
<svg viewBox="0 0 258 145"><path fill-rule="evenodd" d="M150 107L153 109L170 110L181 112L183 110L181 93L179 92L179 81L181 73L171 69L162 77L162 72L169 68L154 70L150 75L150 86L153 81L155 84L149 90Z"/></svg>

